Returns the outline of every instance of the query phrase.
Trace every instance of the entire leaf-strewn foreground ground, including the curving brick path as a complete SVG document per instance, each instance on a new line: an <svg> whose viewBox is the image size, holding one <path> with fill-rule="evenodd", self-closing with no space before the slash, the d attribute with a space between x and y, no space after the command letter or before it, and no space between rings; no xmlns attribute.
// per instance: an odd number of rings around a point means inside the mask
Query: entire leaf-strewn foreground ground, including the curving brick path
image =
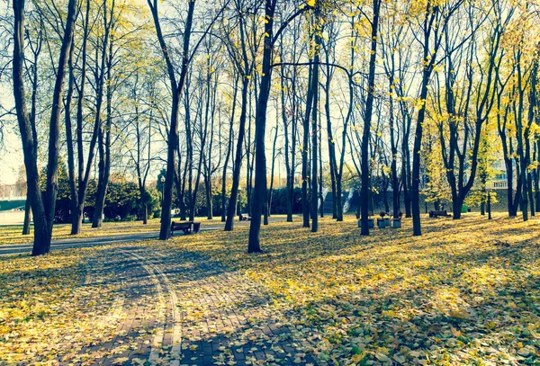
<svg viewBox="0 0 540 366"><path fill-rule="evenodd" d="M247 227L0 257L0 365L540 364L540 220Z"/></svg>

